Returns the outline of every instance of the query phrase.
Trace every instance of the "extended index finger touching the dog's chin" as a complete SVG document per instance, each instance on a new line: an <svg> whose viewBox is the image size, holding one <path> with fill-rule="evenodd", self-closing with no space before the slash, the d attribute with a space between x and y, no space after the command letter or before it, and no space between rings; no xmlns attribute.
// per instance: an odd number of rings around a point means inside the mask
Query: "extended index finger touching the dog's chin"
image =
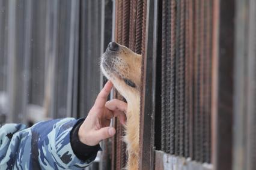
<svg viewBox="0 0 256 170"><path fill-rule="evenodd" d="M106 100L108 99L108 95L111 92L113 84L111 81L108 81L105 86L103 87L102 91L100 91L99 95L96 98L95 107L102 108L105 107Z"/></svg>

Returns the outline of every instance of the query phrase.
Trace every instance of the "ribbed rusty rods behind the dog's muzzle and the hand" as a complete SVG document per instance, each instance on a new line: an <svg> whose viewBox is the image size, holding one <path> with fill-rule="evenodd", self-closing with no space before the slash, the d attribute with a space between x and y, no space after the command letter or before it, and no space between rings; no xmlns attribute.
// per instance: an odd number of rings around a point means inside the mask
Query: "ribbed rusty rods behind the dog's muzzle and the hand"
<svg viewBox="0 0 256 170"><path fill-rule="evenodd" d="M115 41L143 55L145 47L145 0L115 1ZM116 95L121 99L120 95ZM117 135L113 142L112 169L121 169L126 165L126 145L121 139L124 129L115 120Z"/></svg>

